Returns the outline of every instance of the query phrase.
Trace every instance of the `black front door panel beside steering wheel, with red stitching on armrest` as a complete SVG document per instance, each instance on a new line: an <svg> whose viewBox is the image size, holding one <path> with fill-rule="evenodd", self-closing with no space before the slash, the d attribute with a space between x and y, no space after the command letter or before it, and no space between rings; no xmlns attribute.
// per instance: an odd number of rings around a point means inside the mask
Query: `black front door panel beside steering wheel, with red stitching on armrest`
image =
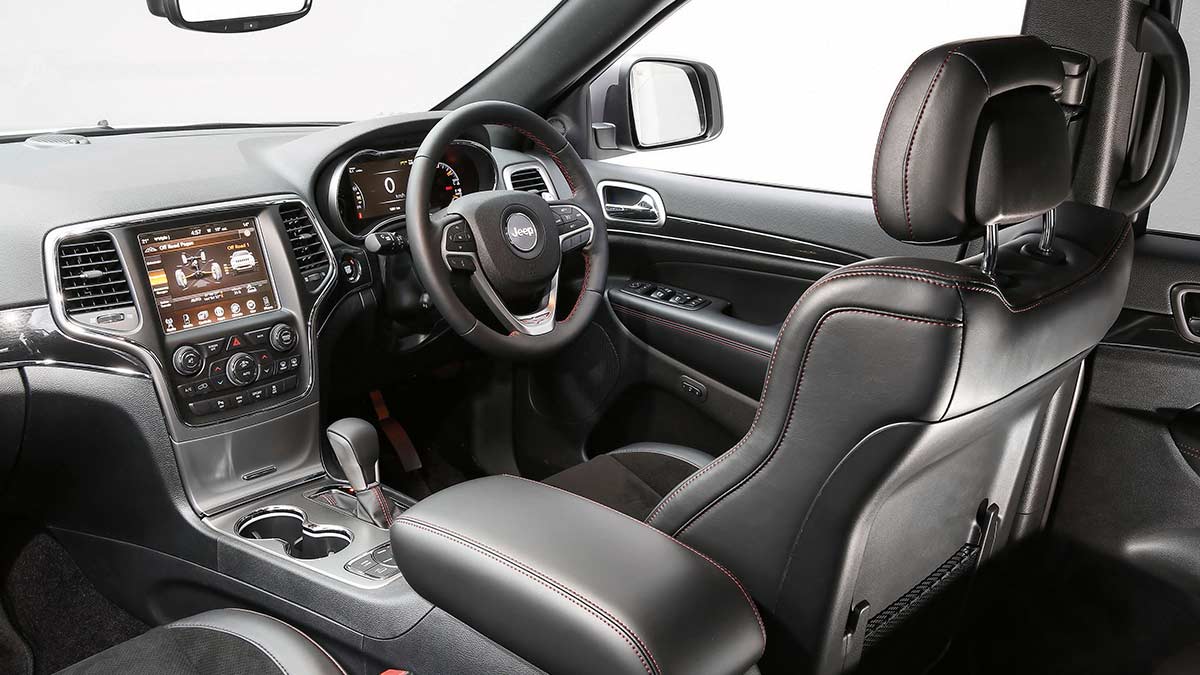
<svg viewBox="0 0 1200 675"><path fill-rule="evenodd" d="M749 428L779 328L814 281L860 259L961 253L890 239L868 197L594 161L588 171L598 183L652 189L664 217L661 225L620 217L629 211L608 219L612 311L601 312L578 348L517 377L518 462L530 476L626 442L724 452ZM618 197L624 205L640 201L636 191ZM626 292L631 281L704 304Z"/></svg>

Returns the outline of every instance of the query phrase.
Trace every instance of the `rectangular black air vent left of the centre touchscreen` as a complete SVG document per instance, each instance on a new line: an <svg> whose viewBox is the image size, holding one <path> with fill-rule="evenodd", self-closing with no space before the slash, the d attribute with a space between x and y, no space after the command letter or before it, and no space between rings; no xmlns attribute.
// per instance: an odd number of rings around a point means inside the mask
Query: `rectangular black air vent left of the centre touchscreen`
<svg viewBox="0 0 1200 675"><path fill-rule="evenodd" d="M133 305L116 245L107 234L59 244L59 287L68 315Z"/></svg>

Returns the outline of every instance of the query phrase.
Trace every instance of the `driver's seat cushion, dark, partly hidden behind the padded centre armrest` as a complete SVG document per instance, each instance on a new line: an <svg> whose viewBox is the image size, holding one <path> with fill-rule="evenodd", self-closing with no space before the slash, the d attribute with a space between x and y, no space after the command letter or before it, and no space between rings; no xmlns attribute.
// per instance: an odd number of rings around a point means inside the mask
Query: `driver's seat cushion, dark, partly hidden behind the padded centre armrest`
<svg viewBox="0 0 1200 675"><path fill-rule="evenodd" d="M712 455L683 446L637 443L560 471L545 483L646 520L676 485L710 461Z"/></svg>

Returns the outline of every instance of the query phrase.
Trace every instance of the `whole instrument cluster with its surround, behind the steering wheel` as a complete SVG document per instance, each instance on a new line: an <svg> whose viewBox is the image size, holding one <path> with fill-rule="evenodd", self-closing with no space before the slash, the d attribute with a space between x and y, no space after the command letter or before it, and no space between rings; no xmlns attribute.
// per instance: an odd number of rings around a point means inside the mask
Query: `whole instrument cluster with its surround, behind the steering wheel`
<svg viewBox="0 0 1200 675"><path fill-rule="evenodd" d="M330 189L342 228L362 238L404 220L408 174L416 148L356 150L334 173ZM438 161L430 207L437 211L450 202L497 186L498 172L491 151L474 141L455 141Z"/></svg>

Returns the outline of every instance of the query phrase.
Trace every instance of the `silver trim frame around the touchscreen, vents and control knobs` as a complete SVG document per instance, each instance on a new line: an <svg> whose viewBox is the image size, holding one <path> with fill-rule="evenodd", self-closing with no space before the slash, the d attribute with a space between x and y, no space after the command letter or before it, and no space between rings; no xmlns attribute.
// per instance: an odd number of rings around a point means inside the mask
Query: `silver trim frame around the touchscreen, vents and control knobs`
<svg viewBox="0 0 1200 675"><path fill-rule="evenodd" d="M66 309L64 306L62 289L59 286L59 275L58 275L58 250L59 250L59 243L62 239L68 238L68 237L78 237L80 234L88 234L90 232L101 231L101 229L106 229L107 231L107 229L113 229L113 228L119 228L119 227L128 227L128 226L133 226L133 225L148 225L148 223L154 223L156 221L170 220L170 219L175 219L175 217L185 217L185 216L193 216L193 215L205 215L205 214L218 214L218 213L222 213L222 211L229 211L229 210L236 210L236 209L245 209L245 208L252 208L252 207L265 208L265 207L272 207L272 205L277 205L277 204L284 204L284 203L288 203L288 202L296 202L301 207L304 207L305 211L308 214L308 219L313 223L313 229L317 231L317 235L320 238L322 244L325 246L325 253L329 257L329 267L328 267L328 271L325 274L325 281L322 283L322 286L318 289L319 292L317 294L317 298L312 303L312 307L310 309L308 316L307 317L302 317L304 321L305 321L305 323L308 327L308 356L307 356L307 358L308 358L310 366L308 366L308 381L305 383L304 390L300 392L300 393L298 393L298 395L283 398L278 402L276 402L276 404L274 404L274 405L271 405L269 407L265 407L265 408L262 408L262 410L257 410L257 411L253 411L253 412L248 412L245 416L235 416L235 417L230 417L230 418L226 418L226 419L214 419L211 423L198 424L198 425L197 424L190 424L190 423L185 422L182 419L182 417L180 417L178 414L178 412L175 410L175 402L174 402L174 400L172 399L172 395L170 395L172 384L170 384L170 381L167 378L166 368L163 366L163 364L161 364L158 362L158 358L155 356L154 352L151 352L146 347L143 347L142 345L139 345L139 344L130 340L126 336L121 336L121 335L116 335L116 334L109 334L109 333L102 333L102 331L98 331L98 330L95 330L95 329L91 329L91 328L86 328L86 327L83 327L83 325L80 325L80 324L71 321L67 317ZM282 235L283 235L284 241L287 241L287 233L284 232ZM118 255L120 255L121 247L120 246L115 246L115 247L118 250ZM299 400L302 400L304 398L308 396L308 394L312 392L312 388L313 388L314 382L316 382L316 372L317 372L317 368L318 368L318 365L317 365L317 330L316 330L316 325L314 325L314 322L313 322L313 317L316 316L317 307L320 306L322 301L325 299L325 295L329 294L329 291L334 287L334 282L337 280L337 268L335 267L335 261L334 261L334 249L332 249L332 246L330 246L329 239L325 237L324 223L317 216L317 213L312 209L312 207L310 207L308 203L302 197L300 197L299 195L295 195L295 193L280 193L280 195L270 195L270 196L265 196L265 197L251 197L251 198L246 198L246 199L233 199L233 201L228 201L228 202L215 202L215 203L210 203L210 204L196 204L196 205L191 205L191 207L180 207L180 208L166 209L166 210L161 210L161 211L150 211L150 213L134 214L134 215L128 215L128 216L118 216L118 217L96 220L96 221L90 221L90 222L82 222L82 223L76 223L76 225L67 225L67 226L54 228L54 229L52 229L46 235L46 240L42 244L42 257L43 257L43 263L46 265L46 283L47 283L47 288L49 289L49 306L50 306L50 315L54 317L54 323L58 324L58 327L59 327L60 330L62 330L65 334L67 334L67 335L70 335L72 338L76 338L76 339L82 340L84 342L98 342L98 344L101 344L101 345L103 345L106 347L112 347L112 348L116 348L118 351L122 351L122 352L126 352L126 353L132 353L134 357L137 357L138 359L140 359L142 363L144 363L146 365L146 368L150 370L151 380L155 383L155 390L158 394L158 404L160 404L160 406L162 407L163 412L170 417L170 419L173 422L178 422L179 424L181 424L184 426L187 426L187 428L191 428L191 429L200 429L200 428L204 428L204 426L209 426L210 424L227 424L227 423L241 419L244 417L247 417L250 414L258 414L258 413L271 411L271 410L275 410L275 408L278 408L278 407L282 407L282 406L292 405L292 404L294 404L294 402L296 402ZM124 256L121 256L121 264L125 265L126 275L128 275L130 267L128 267L127 261L125 261ZM270 261L268 261L268 268L270 268ZM272 279L274 279L274 273L272 273ZM305 288L304 288L302 285L299 286L299 292L301 294L305 293ZM137 300L136 299L134 299L134 306L138 307L138 313L139 315L143 313L143 307L140 307L140 306L137 305ZM276 311L280 311L280 310L276 310Z"/></svg>

